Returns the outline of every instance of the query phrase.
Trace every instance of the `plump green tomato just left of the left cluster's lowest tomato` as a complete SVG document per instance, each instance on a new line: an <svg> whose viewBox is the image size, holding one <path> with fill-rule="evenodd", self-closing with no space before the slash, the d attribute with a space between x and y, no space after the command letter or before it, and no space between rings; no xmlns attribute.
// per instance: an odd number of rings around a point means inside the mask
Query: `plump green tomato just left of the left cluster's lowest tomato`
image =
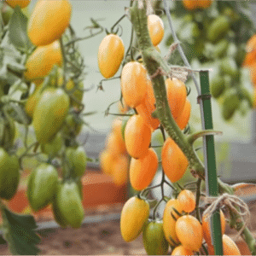
<svg viewBox="0 0 256 256"><path fill-rule="evenodd" d="M27 184L27 198L37 212L49 205L55 195L58 182L58 172L54 166L41 164L30 175Z"/></svg>

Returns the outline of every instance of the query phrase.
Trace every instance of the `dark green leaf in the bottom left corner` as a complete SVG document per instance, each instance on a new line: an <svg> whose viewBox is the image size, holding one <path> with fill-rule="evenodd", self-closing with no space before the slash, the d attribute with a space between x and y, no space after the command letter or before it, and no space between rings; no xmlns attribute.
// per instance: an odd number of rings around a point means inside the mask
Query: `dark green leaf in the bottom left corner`
<svg viewBox="0 0 256 256"><path fill-rule="evenodd" d="M35 233L37 224L32 215L17 214L3 207L3 237L9 250L17 255L37 255L40 237Z"/></svg>

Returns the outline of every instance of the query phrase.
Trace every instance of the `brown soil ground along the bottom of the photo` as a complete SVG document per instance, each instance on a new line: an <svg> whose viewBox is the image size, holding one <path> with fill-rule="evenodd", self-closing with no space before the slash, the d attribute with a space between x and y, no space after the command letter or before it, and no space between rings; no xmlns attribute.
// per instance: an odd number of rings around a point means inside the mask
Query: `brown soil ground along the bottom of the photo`
<svg viewBox="0 0 256 256"><path fill-rule="evenodd" d="M256 202L249 204L251 212L250 230L256 230ZM120 212L122 204L112 207L102 206L86 212L86 216L98 214L111 214ZM227 229L226 234L232 230ZM142 235L135 241L125 242L119 230L119 220L101 224L83 224L78 230L72 228L41 230L39 235L42 242L39 244L40 254L44 255L142 255L146 254L143 249ZM1 254L8 254L6 244L0 245ZM170 254L170 253L169 253Z"/></svg>

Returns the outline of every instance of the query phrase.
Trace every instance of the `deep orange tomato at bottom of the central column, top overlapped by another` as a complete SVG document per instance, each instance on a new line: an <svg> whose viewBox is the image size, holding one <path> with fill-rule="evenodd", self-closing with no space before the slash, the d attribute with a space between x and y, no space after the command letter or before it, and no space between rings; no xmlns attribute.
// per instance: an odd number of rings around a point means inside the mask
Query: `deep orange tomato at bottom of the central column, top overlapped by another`
<svg viewBox="0 0 256 256"><path fill-rule="evenodd" d="M157 154L153 148L148 148L148 153L142 158L131 159L130 182L133 189L141 191L152 182L158 167Z"/></svg>

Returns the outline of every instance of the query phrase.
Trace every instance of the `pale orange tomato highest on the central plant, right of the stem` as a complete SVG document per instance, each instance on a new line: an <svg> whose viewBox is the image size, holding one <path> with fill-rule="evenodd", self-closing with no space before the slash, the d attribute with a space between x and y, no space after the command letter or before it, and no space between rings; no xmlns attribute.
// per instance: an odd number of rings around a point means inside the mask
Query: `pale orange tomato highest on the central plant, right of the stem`
<svg viewBox="0 0 256 256"><path fill-rule="evenodd" d="M164 37L165 29L163 20L157 15L148 15L148 32L154 46L160 44Z"/></svg>

